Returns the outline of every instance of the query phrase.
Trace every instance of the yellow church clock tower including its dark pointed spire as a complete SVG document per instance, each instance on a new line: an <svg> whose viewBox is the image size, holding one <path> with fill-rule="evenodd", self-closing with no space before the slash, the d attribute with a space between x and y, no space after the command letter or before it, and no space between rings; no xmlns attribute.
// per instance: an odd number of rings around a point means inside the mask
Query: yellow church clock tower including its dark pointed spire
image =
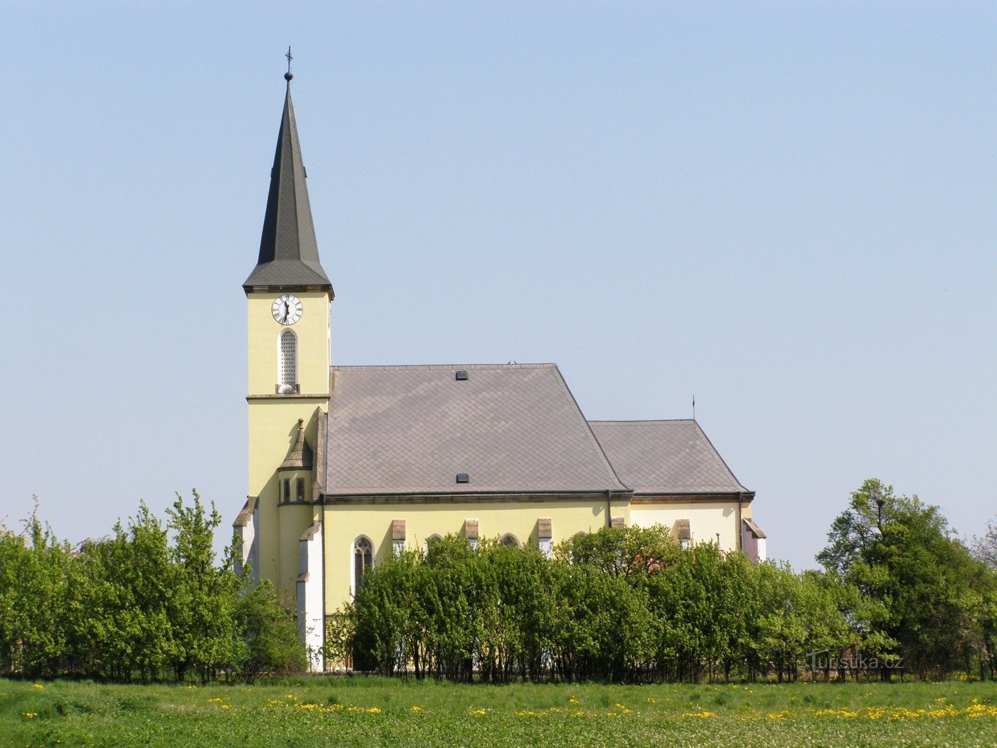
<svg viewBox="0 0 997 748"><path fill-rule="evenodd" d="M291 103L292 77L288 70L259 258L242 284L249 354L249 495L235 528L243 543L241 561L251 564L253 577L272 580L293 598L302 575L300 542L321 532L312 458L318 421L329 407L333 290L318 258Z"/></svg>

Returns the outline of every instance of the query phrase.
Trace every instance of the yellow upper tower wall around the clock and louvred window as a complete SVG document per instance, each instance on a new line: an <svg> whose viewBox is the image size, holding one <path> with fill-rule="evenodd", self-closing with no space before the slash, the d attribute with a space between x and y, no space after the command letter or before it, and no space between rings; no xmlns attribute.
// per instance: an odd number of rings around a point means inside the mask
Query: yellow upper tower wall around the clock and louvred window
<svg viewBox="0 0 997 748"><path fill-rule="evenodd" d="M249 394L273 395L277 385L278 338L291 330L298 338L298 385L302 395L329 392L329 294L294 292L301 319L282 325L273 318L276 291L246 294L249 321Z"/></svg>

